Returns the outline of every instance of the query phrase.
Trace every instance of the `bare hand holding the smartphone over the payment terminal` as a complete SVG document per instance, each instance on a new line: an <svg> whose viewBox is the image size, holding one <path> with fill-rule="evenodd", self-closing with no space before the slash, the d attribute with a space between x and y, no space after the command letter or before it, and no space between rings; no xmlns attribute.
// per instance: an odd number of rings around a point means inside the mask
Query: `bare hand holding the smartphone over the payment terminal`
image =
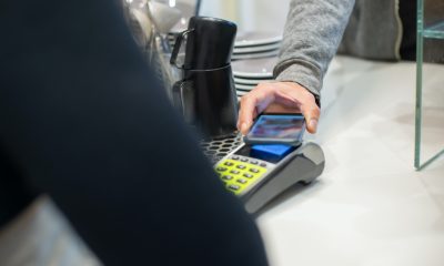
<svg viewBox="0 0 444 266"><path fill-rule="evenodd" d="M306 121L306 130L315 133L321 110L314 95L295 82L260 83L241 99L238 129L245 135L253 119L262 112L302 113Z"/></svg>

